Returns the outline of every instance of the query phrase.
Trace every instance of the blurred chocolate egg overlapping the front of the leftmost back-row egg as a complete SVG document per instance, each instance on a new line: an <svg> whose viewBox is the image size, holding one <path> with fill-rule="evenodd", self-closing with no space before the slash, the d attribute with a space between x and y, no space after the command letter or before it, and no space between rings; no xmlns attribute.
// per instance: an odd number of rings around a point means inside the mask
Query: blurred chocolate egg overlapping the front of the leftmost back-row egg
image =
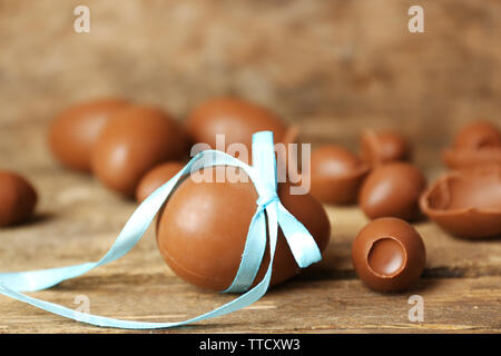
<svg viewBox="0 0 501 356"><path fill-rule="evenodd" d="M141 177L153 167L179 159L186 138L164 110L128 106L117 111L92 149L92 172L110 189L132 197Z"/></svg>

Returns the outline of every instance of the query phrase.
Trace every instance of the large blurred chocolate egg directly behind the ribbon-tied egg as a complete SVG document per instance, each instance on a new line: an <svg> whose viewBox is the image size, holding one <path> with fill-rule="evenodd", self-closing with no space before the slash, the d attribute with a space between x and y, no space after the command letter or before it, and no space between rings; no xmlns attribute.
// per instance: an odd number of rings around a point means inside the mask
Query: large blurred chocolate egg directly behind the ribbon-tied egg
<svg viewBox="0 0 501 356"><path fill-rule="evenodd" d="M257 131L273 131L275 142L288 144L295 139L289 137L282 119L268 109L229 97L210 99L199 105L188 117L186 127L195 144L208 144L213 149L220 149L216 147L216 135L224 135L225 151L230 144L245 145L249 159L252 137Z"/></svg>

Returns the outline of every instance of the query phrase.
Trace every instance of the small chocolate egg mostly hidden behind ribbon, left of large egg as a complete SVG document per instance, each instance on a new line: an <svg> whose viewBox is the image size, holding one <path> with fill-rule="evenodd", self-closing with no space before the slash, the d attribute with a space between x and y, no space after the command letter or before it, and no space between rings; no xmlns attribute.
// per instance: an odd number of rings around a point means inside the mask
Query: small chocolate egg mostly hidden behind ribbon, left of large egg
<svg viewBox="0 0 501 356"><path fill-rule="evenodd" d="M150 169L137 185L136 201L141 202L143 200L148 198L151 192L157 190L161 185L176 176L184 166L184 164L178 161L168 161Z"/></svg>

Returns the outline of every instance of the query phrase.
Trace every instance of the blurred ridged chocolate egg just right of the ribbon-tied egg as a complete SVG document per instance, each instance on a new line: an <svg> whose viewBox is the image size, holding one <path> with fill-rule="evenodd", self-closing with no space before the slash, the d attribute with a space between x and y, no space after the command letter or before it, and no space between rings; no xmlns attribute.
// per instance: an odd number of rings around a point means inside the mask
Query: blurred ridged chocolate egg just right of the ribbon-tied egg
<svg viewBox="0 0 501 356"><path fill-rule="evenodd" d="M347 149L335 145L322 146L312 152L311 192L323 202L356 202L367 172L369 166Z"/></svg>

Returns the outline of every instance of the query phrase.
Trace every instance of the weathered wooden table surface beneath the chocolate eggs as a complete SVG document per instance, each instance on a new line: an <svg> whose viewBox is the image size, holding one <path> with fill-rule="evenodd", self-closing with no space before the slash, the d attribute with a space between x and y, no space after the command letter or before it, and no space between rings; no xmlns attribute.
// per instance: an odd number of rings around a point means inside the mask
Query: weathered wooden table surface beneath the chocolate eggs
<svg viewBox="0 0 501 356"><path fill-rule="evenodd" d="M0 230L0 270L29 270L98 260L136 208L91 177L59 167L46 149L43 127L3 126L0 155L38 188L36 218ZM31 132L31 134L26 134ZM33 134L35 132L35 134ZM428 169L435 177L438 170ZM415 224L428 253L422 278L400 294L366 288L351 263L351 244L367 222L357 207L326 206L332 238L323 261L271 289L254 305L190 326L154 333L499 333L500 240L451 237ZM163 261L150 228L125 257L85 276L29 295L70 308L84 295L92 314L175 322L235 296L193 287ZM410 322L407 299L424 300L424 320ZM127 333L69 320L0 296L0 333ZM145 333L150 333L146 330Z"/></svg>

